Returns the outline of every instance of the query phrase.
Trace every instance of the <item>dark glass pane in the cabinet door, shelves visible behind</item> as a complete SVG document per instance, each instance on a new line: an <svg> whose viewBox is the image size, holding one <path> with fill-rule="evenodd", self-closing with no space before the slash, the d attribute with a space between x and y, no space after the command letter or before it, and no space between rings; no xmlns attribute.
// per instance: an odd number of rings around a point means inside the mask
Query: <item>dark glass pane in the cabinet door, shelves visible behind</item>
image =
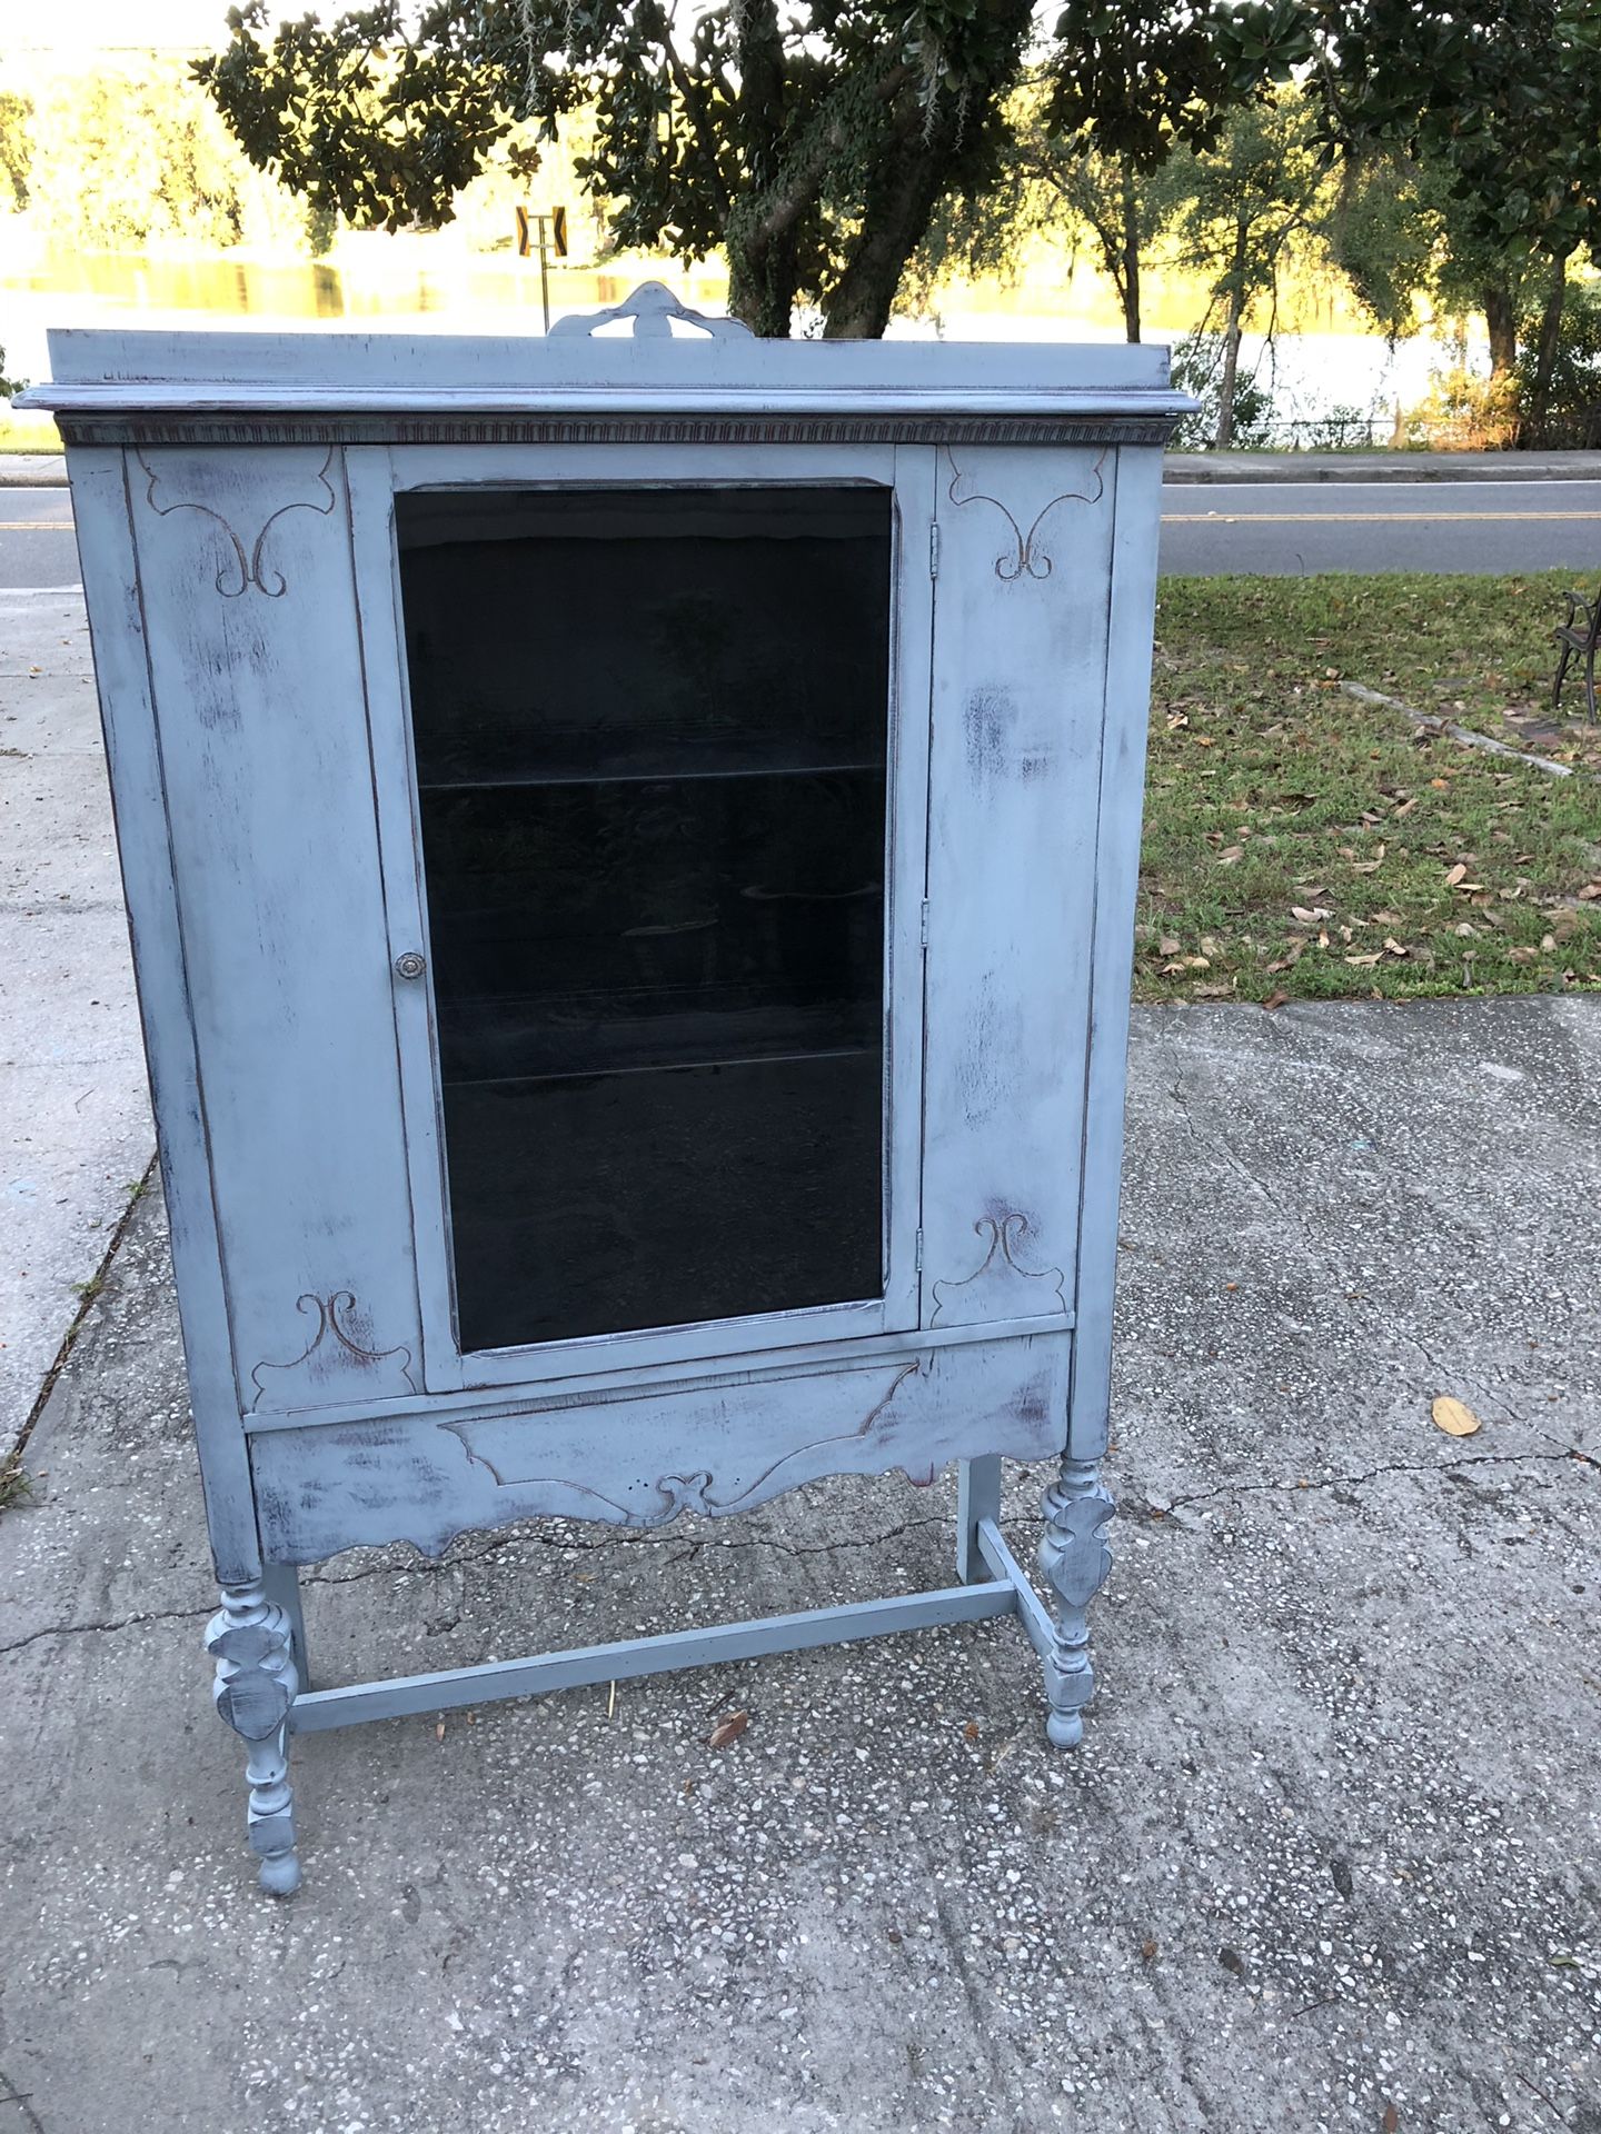
<svg viewBox="0 0 1601 2134"><path fill-rule="evenodd" d="M461 1347L882 1295L888 493L395 501Z"/></svg>

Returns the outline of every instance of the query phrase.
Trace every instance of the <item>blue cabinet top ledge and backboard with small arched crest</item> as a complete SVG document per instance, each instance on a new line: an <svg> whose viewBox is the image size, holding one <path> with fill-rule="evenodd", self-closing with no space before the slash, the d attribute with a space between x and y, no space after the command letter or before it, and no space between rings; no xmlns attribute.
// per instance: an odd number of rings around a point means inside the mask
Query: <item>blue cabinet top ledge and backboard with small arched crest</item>
<svg viewBox="0 0 1601 2134"><path fill-rule="evenodd" d="M657 294L647 294L655 288ZM51 380L19 405L66 414L920 414L1142 416L1189 401L1166 348L1063 341L764 341L647 284L549 337L53 329ZM632 333L630 333L632 329Z"/></svg>

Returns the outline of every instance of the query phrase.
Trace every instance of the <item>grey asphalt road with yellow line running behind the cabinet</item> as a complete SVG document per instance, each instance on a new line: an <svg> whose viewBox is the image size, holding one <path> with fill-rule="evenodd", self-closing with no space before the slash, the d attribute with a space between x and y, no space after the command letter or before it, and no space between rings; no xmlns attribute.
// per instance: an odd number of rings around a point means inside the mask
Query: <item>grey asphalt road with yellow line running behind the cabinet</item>
<svg viewBox="0 0 1601 2134"><path fill-rule="evenodd" d="M1170 484L1174 576L1317 570L1573 570L1601 576L1601 482ZM64 489L0 489L0 587L77 585Z"/></svg>

